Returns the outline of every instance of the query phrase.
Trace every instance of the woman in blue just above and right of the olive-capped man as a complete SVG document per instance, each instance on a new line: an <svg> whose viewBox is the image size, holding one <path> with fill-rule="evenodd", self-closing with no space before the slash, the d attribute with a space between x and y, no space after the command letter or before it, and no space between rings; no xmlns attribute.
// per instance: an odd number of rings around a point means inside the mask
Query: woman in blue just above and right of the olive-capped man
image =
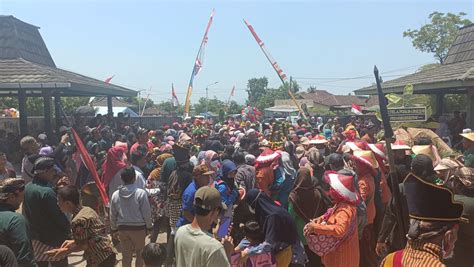
<svg viewBox="0 0 474 267"><path fill-rule="evenodd" d="M224 160L219 172L219 178L214 183L214 187L221 193L221 200L226 204L227 210L224 217L232 217L232 206L237 200L238 191L235 187L235 175L237 174L237 166L231 160Z"/></svg>

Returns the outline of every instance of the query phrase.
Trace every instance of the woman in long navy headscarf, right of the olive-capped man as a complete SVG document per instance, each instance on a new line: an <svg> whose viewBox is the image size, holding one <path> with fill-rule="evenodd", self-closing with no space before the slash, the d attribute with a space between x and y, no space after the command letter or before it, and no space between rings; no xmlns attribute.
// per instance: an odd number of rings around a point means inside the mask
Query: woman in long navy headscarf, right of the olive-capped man
<svg viewBox="0 0 474 267"><path fill-rule="evenodd" d="M265 241L247 252L248 256L267 253L275 255L277 267L289 266L292 246L298 241L296 226L288 211L278 206L264 192L250 190L245 196L252 213L263 229Z"/></svg>

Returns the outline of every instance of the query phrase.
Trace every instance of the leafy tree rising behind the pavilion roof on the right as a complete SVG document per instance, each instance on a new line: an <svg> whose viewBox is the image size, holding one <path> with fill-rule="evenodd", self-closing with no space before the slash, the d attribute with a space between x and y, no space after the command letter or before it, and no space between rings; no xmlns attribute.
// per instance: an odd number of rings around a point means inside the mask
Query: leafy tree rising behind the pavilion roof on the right
<svg viewBox="0 0 474 267"><path fill-rule="evenodd" d="M443 63L459 28L472 23L469 19L463 18L464 16L466 13L463 12L458 14L433 12L429 15L431 23L419 29L408 29L403 32L403 37L409 37L416 49L434 53L439 63Z"/></svg>

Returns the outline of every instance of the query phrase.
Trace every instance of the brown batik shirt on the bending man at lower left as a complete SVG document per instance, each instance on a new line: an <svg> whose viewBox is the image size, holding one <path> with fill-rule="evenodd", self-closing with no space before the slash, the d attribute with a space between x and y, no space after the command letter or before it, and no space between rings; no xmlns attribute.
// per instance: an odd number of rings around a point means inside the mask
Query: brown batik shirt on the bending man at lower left
<svg viewBox="0 0 474 267"><path fill-rule="evenodd" d="M87 243L88 245L84 251L87 266L98 266L107 257L115 254L112 243L105 232L105 225L93 209L77 207L73 213L71 229L76 243Z"/></svg>

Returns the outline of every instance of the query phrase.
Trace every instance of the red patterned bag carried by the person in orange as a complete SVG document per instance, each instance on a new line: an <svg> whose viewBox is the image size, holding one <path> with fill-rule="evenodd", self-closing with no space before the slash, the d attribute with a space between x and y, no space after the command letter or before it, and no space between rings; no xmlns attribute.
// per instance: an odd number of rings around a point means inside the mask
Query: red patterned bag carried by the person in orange
<svg viewBox="0 0 474 267"><path fill-rule="evenodd" d="M337 207L329 208L327 210L327 212L323 215L322 224L327 224L329 217L334 213L336 208ZM316 233L305 235L309 249L321 257L335 251L342 242L344 242L350 235L352 235L352 233L354 233L357 226L356 221L357 220L355 218L352 219L349 226L349 231L347 231L347 233L342 237ZM306 224L304 228L306 229L307 227L308 224Z"/></svg>

